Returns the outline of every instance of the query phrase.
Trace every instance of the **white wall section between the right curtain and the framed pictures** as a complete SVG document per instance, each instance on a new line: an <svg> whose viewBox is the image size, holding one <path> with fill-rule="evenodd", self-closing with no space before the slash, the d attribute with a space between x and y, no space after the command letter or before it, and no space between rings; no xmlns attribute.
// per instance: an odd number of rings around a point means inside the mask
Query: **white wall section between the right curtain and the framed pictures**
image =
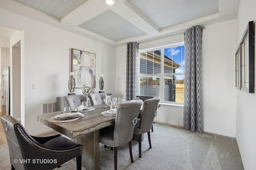
<svg viewBox="0 0 256 170"><path fill-rule="evenodd" d="M236 20L207 25L202 37L204 131L235 137Z"/></svg>

